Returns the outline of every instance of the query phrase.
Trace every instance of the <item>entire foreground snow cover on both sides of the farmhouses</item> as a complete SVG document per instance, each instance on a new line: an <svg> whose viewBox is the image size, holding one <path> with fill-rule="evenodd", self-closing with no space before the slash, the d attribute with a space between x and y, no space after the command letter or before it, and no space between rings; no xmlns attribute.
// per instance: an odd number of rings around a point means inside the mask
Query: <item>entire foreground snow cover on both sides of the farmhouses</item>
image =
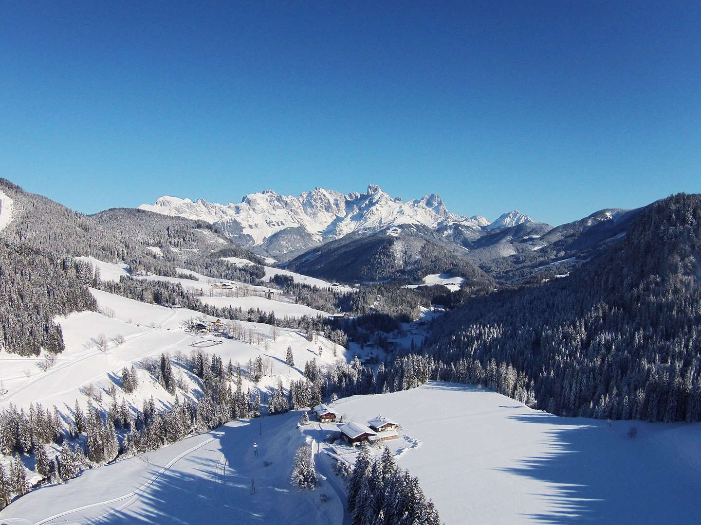
<svg viewBox="0 0 701 525"><path fill-rule="evenodd" d="M491 391L447 383L357 395L334 408L354 421L382 414L402 425L400 437L384 444L398 455L400 467L418 477L448 525L697 524L701 515L700 424L562 418ZM330 449L323 441L335 425L297 430L299 414L233 421L83 472L18 499L0 519L340 524L344 489L321 453ZM637 437L627 436L631 426ZM289 483L292 454L310 438L326 479L313 492L298 491ZM357 449L339 442L334 447L354 461ZM13 521L18 518L27 521Z"/></svg>

